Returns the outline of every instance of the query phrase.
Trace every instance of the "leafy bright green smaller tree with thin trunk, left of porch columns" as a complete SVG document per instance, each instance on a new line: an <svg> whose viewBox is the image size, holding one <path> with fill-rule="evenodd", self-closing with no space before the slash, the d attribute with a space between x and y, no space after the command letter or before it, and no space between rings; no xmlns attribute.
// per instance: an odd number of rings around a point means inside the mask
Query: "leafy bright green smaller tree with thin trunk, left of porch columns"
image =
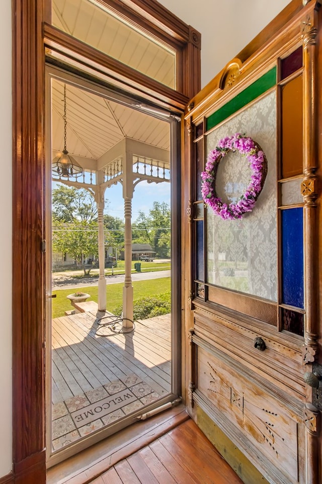
<svg viewBox="0 0 322 484"><path fill-rule="evenodd" d="M90 273L84 259L89 255L98 255L98 223L95 221L56 221L52 228L52 248L54 252L67 252L84 269L84 275Z"/></svg>

